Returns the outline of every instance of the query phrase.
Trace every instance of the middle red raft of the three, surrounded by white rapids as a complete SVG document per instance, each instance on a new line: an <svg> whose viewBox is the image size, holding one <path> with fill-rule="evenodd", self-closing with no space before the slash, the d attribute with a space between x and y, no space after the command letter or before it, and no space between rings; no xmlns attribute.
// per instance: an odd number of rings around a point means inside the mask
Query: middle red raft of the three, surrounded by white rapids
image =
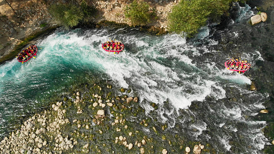
<svg viewBox="0 0 274 154"><path fill-rule="evenodd" d="M107 41L102 44L102 48L108 52L119 53L124 50L124 45L120 42Z"/></svg>

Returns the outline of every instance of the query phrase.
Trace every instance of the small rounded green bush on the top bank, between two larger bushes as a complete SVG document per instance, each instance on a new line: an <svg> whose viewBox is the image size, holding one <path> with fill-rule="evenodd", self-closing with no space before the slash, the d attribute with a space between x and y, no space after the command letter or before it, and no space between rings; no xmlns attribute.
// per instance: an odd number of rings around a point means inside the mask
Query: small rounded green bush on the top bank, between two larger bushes
<svg viewBox="0 0 274 154"><path fill-rule="evenodd" d="M150 5L145 1L138 3L134 0L124 10L125 17L130 19L133 26L146 25L156 17L156 10L150 9Z"/></svg>

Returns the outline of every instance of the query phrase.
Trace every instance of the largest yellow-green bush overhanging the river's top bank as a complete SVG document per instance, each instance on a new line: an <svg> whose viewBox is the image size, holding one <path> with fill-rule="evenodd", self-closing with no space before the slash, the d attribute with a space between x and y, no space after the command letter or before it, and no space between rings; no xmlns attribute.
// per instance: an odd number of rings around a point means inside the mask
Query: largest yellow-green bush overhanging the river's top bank
<svg viewBox="0 0 274 154"><path fill-rule="evenodd" d="M169 31L192 37L211 18L219 21L233 0L181 0L168 14Z"/></svg>

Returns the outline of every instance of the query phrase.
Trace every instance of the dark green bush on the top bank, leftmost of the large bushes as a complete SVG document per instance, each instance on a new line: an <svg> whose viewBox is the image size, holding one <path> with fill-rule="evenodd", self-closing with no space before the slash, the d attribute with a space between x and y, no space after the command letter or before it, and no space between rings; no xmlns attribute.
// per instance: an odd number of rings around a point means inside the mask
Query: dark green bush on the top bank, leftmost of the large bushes
<svg viewBox="0 0 274 154"><path fill-rule="evenodd" d="M78 25L81 21L88 21L95 9L83 0L80 7L71 3L51 5L50 12L65 28L69 28Z"/></svg>

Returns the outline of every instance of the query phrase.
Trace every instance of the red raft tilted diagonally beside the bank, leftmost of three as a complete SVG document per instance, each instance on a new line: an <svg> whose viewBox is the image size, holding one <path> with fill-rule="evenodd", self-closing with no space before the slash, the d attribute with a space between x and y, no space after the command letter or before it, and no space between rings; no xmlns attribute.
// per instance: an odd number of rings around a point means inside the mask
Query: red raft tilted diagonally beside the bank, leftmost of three
<svg viewBox="0 0 274 154"><path fill-rule="evenodd" d="M17 60L19 62L26 62L29 59L31 59L32 57L34 57L34 55L36 55L38 51L38 48L36 46L30 46L27 49L21 51L18 55L17 55ZM35 57L34 57L35 58Z"/></svg>

